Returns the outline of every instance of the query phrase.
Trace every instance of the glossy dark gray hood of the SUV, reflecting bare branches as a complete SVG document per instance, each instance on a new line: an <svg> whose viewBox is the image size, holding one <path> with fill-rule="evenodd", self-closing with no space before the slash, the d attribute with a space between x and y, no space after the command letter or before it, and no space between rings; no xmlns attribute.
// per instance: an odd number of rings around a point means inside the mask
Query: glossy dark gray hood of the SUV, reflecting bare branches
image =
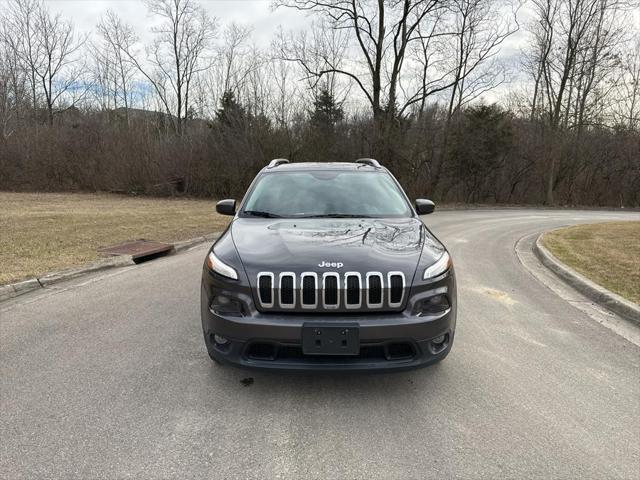
<svg viewBox="0 0 640 480"><path fill-rule="evenodd" d="M425 239L442 248L418 218L236 218L231 234L251 284L265 271L401 271L411 281Z"/></svg>

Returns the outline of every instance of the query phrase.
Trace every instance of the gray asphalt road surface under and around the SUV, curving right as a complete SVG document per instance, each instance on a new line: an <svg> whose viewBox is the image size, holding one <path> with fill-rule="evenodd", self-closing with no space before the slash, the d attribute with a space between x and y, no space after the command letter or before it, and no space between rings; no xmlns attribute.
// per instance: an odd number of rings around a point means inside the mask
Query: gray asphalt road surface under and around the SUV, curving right
<svg viewBox="0 0 640 480"><path fill-rule="evenodd" d="M459 316L449 357L414 372L214 365L204 246L0 304L0 477L640 478L640 347L515 252L556 226L640 215L425 219L453 254Z"/></svg>

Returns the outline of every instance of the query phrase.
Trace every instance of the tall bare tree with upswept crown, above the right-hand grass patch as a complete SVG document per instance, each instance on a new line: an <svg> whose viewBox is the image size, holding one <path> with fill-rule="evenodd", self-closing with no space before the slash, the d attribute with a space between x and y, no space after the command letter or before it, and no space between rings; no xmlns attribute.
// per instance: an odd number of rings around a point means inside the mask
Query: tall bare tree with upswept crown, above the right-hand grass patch
<svg viewBox="0 0 640 480"><path fill-rule="evenodd" d="M606 109L607 79L623 38L621 14L632 4L622 0L534 0L533 38L529 68L534 73L531 118L545 111L551 131L583 127ZM588 118L589 117L589 118ZM566 137L565 137L566 138ZM577 145L574 160L578 157ZM554 203L559 151L549 155L546 201Z"/></svg>

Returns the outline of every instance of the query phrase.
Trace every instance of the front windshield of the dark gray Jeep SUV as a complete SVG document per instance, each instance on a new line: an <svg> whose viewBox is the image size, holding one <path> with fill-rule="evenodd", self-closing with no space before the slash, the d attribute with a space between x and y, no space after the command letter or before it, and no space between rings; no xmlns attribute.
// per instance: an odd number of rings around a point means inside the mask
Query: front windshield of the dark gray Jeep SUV
<svg viewBox="0 0 640 480"><path fill-rule="evenodd" d="M324 170L263 175L242 213L261 217L409 217L411 209L387 173Z"/></svg>

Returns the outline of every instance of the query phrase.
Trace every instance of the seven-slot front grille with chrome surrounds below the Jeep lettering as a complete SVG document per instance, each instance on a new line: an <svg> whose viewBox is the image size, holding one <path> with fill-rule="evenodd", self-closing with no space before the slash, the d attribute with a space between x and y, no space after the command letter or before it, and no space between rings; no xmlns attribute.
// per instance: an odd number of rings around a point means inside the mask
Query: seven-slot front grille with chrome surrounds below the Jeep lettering
<svg viewBox="0 0 640 480"><path fill-rule="evenodd" d="M393 309L402 306L405 290L402 272L261 272L257 277L263 309Z"/></svg>

